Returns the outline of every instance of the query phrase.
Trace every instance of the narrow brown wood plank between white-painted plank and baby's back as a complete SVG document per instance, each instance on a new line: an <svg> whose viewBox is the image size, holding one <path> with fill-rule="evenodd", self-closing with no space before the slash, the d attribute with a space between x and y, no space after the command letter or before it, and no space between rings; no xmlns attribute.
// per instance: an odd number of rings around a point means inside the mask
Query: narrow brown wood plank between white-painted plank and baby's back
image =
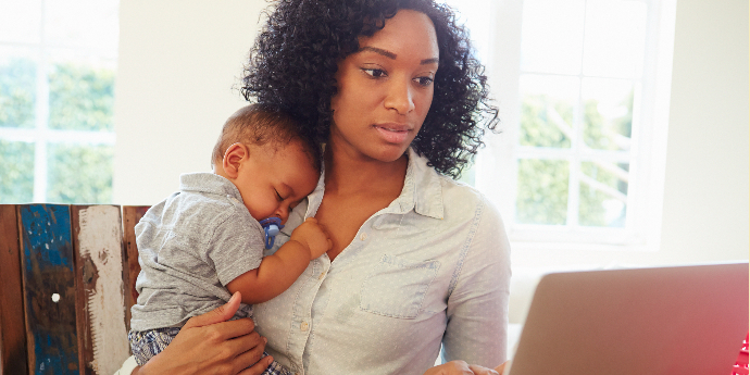
<svg viewBox="0 0 750 375"><path fill-rule="evenodd" d="M127 307L126 320L127 328L130 329L130 308L138 300L138 292L136 291L136 279L140 273L140 264L138 264L138 247L136 246L135 226L143 217L148 205L123 205L123 242L125 245L125 254L127 257L128 272L127 272L127 290L125 297L125 305Z"/></svg>

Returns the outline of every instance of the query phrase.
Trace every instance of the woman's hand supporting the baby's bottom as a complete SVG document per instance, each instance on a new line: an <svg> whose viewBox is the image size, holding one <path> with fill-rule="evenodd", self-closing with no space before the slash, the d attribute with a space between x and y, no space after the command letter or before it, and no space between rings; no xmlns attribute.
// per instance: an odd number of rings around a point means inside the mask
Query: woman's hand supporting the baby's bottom
<svg viewBox="0 0 750 375"><path fill-rule="evenodd" d="M268 355L259 362L266 339L253 330L251 318L227 322L235 315L240 300L240 293L236 292L226 304L188 320L164 351L133 374L263 373L273 361Z"/></svg>

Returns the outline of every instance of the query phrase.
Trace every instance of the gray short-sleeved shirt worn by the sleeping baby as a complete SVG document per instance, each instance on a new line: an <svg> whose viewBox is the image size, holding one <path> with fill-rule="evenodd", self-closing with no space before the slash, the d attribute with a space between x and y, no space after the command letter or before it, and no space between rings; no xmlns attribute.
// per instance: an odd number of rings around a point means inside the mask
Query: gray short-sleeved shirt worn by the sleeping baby
<svg viewBox="0 0 750 375"><path fill-rule="evenodd" d="M182 327L229 300L226 285L258 268L263 228L237 187L212 173L184 174L179 191L153 205L136 225L140 274L133 330ZM252 315L241 304L235 317Z"/></svg>

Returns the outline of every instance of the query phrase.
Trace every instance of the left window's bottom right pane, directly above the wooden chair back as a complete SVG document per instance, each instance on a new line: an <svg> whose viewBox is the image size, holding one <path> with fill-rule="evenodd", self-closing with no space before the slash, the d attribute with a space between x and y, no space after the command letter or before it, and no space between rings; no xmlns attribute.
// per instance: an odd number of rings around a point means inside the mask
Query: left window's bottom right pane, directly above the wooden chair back
<svg viewBox="0 0 750 375"><path fill-rule="evenodd" d="M51 143L47 200L57 203L111 203L112 146Z"/></svg>

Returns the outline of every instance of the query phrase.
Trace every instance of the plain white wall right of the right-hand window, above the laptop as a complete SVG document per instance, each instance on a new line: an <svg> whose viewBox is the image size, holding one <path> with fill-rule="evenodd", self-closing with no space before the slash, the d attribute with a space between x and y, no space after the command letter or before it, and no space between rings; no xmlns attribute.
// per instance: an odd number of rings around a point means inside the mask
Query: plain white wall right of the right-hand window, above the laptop
<svg viewBox="0 0 750 375"><path fill-rule="evenodd" d="M748 259L748 12L677 1L663 258Z"/></svg>

